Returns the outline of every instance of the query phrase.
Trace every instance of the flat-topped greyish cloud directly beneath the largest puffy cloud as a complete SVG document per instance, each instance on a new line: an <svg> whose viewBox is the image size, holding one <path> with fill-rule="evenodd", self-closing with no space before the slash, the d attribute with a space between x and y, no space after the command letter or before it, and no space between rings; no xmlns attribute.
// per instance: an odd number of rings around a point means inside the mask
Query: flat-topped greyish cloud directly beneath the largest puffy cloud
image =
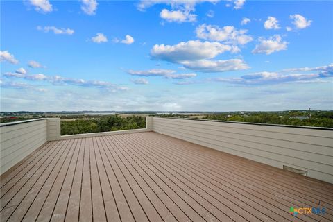
<svg viewBox="0 0 333 222"><path fill-rule="evenodd" d="M187 69L203 72L237 71L250 68L241 59L185 61L182 65Z"/></svg>

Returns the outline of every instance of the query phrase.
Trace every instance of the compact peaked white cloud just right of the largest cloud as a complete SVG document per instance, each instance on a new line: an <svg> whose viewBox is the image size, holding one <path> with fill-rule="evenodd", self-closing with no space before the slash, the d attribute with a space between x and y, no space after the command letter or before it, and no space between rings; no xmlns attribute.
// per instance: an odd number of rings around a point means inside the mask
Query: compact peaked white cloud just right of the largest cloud
<svg viewBox="0 0 333 222"><path fill-rule="evenodd" d="M269 55L275 51L286 50L288 44L288 42L282 41L280 35L273 35L268 40L259 38L259 42L252 53L266 53L266 55Z"/></svg>

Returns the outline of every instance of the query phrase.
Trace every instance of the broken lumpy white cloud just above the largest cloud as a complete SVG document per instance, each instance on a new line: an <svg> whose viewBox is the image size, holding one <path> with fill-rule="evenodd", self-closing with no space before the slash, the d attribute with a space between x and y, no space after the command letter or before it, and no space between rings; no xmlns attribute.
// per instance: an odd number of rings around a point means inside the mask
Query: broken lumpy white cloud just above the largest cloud
<svg viewBox="0 0 333 222"><path fill-rule="evenodd" d="M202 24L196 28L196 36L211 41L225 42L227 44L247 44L253 40L250 35L246 35L247 30L237 30L234 26L211 26Z"/></svg>

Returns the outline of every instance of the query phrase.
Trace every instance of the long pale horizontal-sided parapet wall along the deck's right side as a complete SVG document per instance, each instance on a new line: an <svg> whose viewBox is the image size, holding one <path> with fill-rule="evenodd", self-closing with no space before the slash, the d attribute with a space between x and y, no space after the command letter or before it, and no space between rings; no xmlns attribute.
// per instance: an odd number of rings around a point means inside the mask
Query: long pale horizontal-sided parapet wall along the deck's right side
<svg viewBox="0 0 333 222"><path fill-rule="evenodd" d="M333 183L333 130L153 117L153 130Z"/></svg>

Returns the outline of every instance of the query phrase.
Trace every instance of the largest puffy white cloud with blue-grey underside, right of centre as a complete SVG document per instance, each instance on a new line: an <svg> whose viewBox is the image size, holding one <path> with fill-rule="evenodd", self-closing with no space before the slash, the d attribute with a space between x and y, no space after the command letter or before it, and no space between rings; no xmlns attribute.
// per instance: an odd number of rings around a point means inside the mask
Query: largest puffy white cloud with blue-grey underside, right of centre
<svg viewBox="0 0 333 222"><path fill-rule="evenodd" d="M186 60L200 60L214 58L220 53L232 50L231 46L219 42L200 42L191 40L176 45L155 44L151 49L151 56L158 60L180 63Z"/></svg>

